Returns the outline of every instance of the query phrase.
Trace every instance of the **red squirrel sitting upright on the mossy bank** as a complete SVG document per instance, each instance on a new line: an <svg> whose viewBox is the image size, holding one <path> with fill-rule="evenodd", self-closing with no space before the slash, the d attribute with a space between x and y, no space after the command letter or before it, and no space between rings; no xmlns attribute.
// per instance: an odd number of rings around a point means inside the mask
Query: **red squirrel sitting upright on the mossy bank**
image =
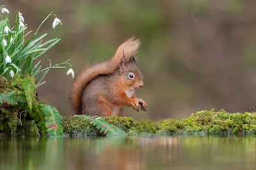
<svg viewBox="0 0 256 170"><path fill-rule="evenodd" d="M70 103L77 115L124 117L125 106L146 111L147 103L135 96L135 90L144 86L134 58L139 46L139 39L127 39L111 59L77 73L70 90Z"/></svg>

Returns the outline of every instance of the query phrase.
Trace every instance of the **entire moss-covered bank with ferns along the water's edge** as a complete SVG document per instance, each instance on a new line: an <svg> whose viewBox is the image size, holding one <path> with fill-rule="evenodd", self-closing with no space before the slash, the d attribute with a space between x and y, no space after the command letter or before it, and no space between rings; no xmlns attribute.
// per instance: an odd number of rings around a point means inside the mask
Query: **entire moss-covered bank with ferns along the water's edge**
<svg viewBox="0 0 256 170"><path fill-rule="evenodd" d="M108 136L108 134L255 134L256 113L205 110L159 122L130 117L62 116L40 101L35 80L0 77L0 134L10 136Z"/></svg>

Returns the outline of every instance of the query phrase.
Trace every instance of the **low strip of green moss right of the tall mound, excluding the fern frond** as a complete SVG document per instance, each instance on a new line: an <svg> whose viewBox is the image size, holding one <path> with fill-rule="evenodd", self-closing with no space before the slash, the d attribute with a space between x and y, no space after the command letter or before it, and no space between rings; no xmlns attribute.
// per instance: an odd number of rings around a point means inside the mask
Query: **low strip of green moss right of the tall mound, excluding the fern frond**
<svg viewBox="0 0 256 170"><path fill-rule="evenodd" d="M255 134L255 113L228 113L224 110L198 111L184 119L166 119L159 122L136 121L130 117L103 117L128 135L154 134ZM97 134L97 130L81 118L63 117L65 134ZM89 129L88 129L89 128Z"/></svg>

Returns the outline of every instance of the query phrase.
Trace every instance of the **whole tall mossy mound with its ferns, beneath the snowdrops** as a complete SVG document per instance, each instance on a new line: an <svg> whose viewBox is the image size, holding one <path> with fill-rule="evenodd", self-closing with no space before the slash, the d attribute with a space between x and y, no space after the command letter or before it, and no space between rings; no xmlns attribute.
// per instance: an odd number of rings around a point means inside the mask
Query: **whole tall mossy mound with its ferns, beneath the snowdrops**
<svg viewBox="0 0 256 170"><path fill-rule="evenodd" d="M8 78L10 80L10 78ZM50 136L62 135L62 117L52 106L45 105L36 97L35 80L29 76L15 76L6 81L3 76L0 85L4 93L0 95L0 132L15 135L38 133ZM7 123L6 123L7 122Z"/></svg>

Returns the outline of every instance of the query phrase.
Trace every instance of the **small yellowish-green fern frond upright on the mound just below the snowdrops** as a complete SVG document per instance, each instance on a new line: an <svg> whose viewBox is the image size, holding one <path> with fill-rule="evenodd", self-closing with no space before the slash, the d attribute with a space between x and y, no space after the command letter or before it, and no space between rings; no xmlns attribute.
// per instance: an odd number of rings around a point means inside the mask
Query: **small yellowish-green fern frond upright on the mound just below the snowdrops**
<svg viewBox="0 0 256 170"><path fill-rule="evenodd" d="M31 81L28 80L28 78L25 78L24 81L23 81L23 88L24 88L24 92L25 92L25 95L26 95L26 99L28 101L29 109L32 111L33 99L34 99L35 94L36 94L35 87L31 83Z"/></svg>

